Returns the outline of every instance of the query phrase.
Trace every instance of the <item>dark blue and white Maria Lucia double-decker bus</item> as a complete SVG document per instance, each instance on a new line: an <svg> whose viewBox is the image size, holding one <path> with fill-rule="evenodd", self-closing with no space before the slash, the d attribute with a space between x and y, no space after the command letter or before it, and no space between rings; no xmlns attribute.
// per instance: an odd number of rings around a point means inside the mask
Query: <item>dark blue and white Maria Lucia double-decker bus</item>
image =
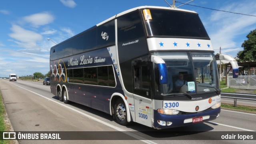
<svg viewBox="0 0 256 144"><path fill-rule="evenodd" d="M234 77L238 65L229 60ZM106 112L121 125L156 129L216 119L218 67L196 12L141 6L50 49L51 92Z"/></svg>

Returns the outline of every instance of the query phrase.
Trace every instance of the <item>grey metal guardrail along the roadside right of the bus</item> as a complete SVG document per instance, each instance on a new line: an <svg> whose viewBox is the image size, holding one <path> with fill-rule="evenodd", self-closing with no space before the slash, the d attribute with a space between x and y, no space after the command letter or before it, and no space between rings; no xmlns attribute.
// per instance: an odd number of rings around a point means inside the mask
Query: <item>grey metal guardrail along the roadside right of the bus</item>
<svg viewBox="0 0 256 144"><path fill-rule="evenodd" d="M234 99L234 107L236 107L236 103L238 99L256 101L256 95L253 94L244 94L244 93L220 93L220 97Z"/></svg>

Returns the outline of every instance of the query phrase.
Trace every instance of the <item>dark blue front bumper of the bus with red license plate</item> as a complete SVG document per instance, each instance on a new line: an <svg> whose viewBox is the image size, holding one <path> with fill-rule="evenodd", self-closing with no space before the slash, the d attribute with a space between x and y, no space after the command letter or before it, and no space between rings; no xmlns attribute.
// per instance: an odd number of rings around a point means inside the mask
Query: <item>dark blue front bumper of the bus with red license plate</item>
<svg viewBox="0 0 256 144"><path fill-rule="evenodd" d="M154 124L156 129L174 128L179 126L187 126L191 124L197 124L201 122L207 122L216 119L220 114L220 107L209 110L206 112L199 112L196 114L182 114L182 115L166 115L160 114L157 110L154 110ZM200 122L192 122L192 118L202 117Z"/></svg>

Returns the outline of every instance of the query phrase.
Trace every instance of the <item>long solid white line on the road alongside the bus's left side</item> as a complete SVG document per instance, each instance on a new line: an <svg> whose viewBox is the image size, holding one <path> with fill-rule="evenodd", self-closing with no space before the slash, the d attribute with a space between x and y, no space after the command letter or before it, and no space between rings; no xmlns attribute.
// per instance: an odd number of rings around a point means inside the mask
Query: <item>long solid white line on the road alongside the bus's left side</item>
<svg viewBox="0 0 256 144"><path fill-rule="evenodd" d="M13 84L13 85L15 85L15 84ZM18 86L18 85L15 85L15 86L20 87L20 86ZM92 120L95 120L95 121L97 121L97 122L100 122L100 123L102 123L102 124L104 124L104 125L106 125L106 126L108 126L108 127L110 127L110 128L113 128L113 129L118 130L118 131L120 131L120 132L126 132L125 134L127 134L127 135L129 135L129 136L132 136L132 137L134 137L134 138L136 138L136 139L138 139L138 140L140 140L140 141L142 141L142 142L145 142L145 143L147 143L147 144L157 144L157 143L155 143L155 142L152 142L151 140L146 140L145 138L142 138L142 137L137 136L137 135L135 135L135 134L129 133L127 130L124 130L124 129L122 129L122 128L118 128L117 126L114 126L114 125L112 125L112 124L109 124L109 123L107 123L107 122L104 122L103 120L100 120L100 119L98 119L98 118L95 118L95 117L93 117L93 116L90 116L90 115L88 115L88 114L85 114L84 112L80 112L79 110L76 110L76 109L74 109L74 108L68 107L67 105L64 105L64 104L62 104L62 103L58 103L57 101L54 101L54 100L49 99L49 98L47 98L47 97L44 97L43 95L40 95L40 94L38 94L38 93L35 93L35 92L30 91L30 90L28 90L28 89L25 89L25 88L23 88L23 87L20 87L20 88L21 88L21 89L24 89L24 90L26 90L26 91L29 91L29 92L31 92L31 93L34 93L34 94L36 94L36 95L39 95L40 97L43 97L43 98L45 98L45 99L48 99L48 101L52 101L52 102L54 102L54 103L56 103L56 104L58 104L58 105L61 105L61 106L66 107L66 108L68 108L68 109L70 109L70 110L73 110L73 111L75 111L75 112L77 112L77 113L79 113L79 114L82 114L82 115L84 115L84 116L86 116L86 117L88 117L88 118L90 118L90 119L92 119Z"/></svg>

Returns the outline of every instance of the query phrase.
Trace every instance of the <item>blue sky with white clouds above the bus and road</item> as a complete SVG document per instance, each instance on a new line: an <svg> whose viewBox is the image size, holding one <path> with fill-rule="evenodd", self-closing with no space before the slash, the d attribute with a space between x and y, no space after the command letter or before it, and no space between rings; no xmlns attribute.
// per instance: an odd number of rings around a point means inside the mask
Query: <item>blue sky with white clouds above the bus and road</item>
<svg viewBox="0 0 256 144"><path fill-rule="evenodd" d="M172 0L166 1L172 5ZM181 5L178 2L176 6ZM195 6L179 8L199 14L215 53L221 47L221 53L236 57L243 50L241 45L246 35L256 29L255 0L194 0L189 4ZM8 77L10 73L19 76L48 73L50 47L55 43L138 6L169 7L164 0L1 0L0 77Z"/></svg>

